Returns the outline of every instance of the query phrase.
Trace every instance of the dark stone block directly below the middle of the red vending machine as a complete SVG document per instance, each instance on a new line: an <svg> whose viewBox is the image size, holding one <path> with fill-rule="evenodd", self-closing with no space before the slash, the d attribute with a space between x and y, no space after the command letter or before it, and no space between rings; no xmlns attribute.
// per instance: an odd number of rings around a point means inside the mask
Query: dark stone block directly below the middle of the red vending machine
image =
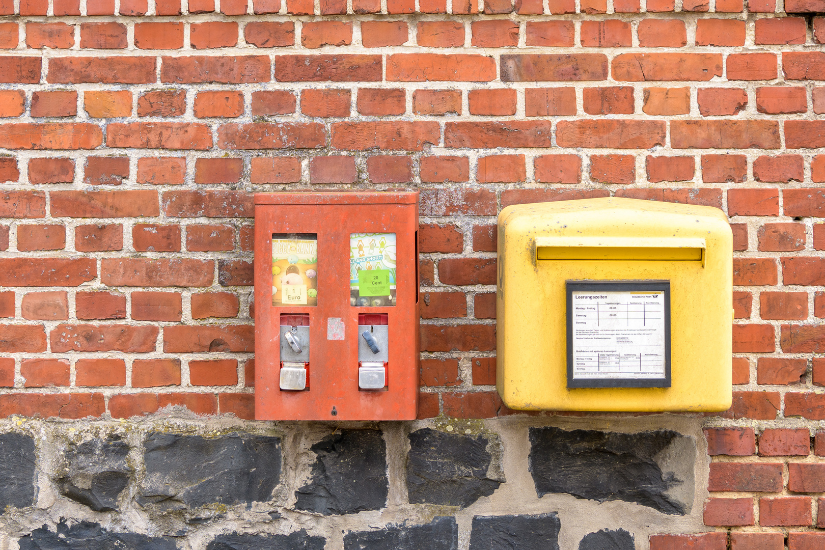
<svg viewBox="0 0 825 550"><path fill-rule="evenodd" d="M314 444L309 483L295 508L323 515L380 510L387 502L387 446L378 430L340 430Z"/></svg>

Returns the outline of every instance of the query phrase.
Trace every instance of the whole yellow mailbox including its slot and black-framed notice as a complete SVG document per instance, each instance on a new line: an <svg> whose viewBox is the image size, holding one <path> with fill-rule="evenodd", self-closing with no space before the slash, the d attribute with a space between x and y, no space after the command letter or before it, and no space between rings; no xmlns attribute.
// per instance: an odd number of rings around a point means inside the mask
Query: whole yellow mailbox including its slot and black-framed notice
<svg viewBox="0 0 825 550"><path fill-rule="evenodd" d="M603 198L498 216L497 388L526 411L724 411L733 260L709 206Z"/></svg>

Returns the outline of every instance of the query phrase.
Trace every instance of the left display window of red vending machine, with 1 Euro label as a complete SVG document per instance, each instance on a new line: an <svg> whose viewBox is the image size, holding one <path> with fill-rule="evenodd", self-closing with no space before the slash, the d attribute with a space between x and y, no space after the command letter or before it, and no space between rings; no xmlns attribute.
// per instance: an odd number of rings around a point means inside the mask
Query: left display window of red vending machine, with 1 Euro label
<svg viewBox="0 0 825 550"><path fill-rule="evenodd" d="M272 235L272 305L318 305L318 235Z"/></svg>

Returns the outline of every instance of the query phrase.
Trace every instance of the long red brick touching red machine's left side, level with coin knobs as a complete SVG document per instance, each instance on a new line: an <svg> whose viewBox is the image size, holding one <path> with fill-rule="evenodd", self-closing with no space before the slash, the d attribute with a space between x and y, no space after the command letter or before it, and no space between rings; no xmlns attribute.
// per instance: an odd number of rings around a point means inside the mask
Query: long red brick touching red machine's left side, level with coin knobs
<svg viewBox="0 0 825 550"><path fill-rule="evenodd" d="M251 352L255 349L255 327L210 325L163 327L165 353Z"/></svg>

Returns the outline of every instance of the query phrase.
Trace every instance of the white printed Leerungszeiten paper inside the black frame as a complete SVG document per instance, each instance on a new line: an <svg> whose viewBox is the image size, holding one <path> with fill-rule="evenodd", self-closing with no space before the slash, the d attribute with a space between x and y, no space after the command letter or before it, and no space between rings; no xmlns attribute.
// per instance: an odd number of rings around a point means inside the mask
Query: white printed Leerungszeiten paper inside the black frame
<svg viewBox="0 0 825 550"><path fill-rule="evenodd" d="M665 293L573 292L573 379L665 378Z"/></svg>

